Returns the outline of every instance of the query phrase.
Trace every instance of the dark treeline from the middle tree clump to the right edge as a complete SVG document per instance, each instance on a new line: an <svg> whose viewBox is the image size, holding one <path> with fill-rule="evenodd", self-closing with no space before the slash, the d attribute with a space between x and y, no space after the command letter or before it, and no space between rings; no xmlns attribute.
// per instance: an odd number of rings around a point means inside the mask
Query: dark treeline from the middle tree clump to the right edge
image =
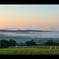
<svg viewBox="0 0 59 59"><path fill-rule="evenodd" d="M41 44L36 44L34 40L31 40L31 41L26 41L25 42L27 46L31 46L31 45L47 45L47 46L50 46L50 45L56 45L58 46L59 45L59 40L48 40L47 42L44 42L44 43L41 43Z"/></svg>

